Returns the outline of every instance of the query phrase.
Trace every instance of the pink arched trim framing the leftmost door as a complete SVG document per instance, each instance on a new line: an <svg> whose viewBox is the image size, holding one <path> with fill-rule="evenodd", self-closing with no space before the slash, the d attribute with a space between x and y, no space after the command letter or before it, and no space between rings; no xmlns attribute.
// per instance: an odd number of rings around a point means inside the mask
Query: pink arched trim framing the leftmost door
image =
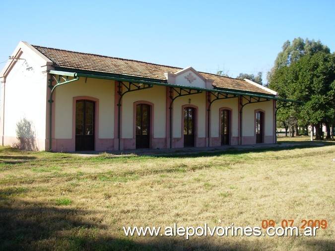
<svg viewBox="0 0 335 251"><path fill-rule="evenodd" d="M75 146L75 103L77 100L90 100L95 102L94 111L94 149L97 147L97 139L99 137L99 99L89 97L89 96L78 96L72 99L72 141Z"/></svg>

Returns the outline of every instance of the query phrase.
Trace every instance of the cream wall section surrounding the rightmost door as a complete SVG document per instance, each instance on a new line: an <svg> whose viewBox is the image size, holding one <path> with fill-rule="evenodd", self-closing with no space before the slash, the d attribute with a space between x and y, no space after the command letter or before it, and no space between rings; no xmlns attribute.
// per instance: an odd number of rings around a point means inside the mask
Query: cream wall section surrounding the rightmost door
<svg viewBox="0 0 335 251"><path fill-rule="evenodd" d="M255 110L265 111L264 129L265 136L273 135L273 101L254 103L243 108L242 135L255 136Z"/></svg>

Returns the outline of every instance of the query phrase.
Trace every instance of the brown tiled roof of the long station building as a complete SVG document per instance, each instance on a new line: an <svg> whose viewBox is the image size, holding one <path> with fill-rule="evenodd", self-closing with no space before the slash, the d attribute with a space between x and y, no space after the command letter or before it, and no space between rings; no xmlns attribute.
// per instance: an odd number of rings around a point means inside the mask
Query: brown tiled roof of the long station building
<svg viewBox="0 0 335 251"><path fill-rule="evenodd" d="M145 63L135 60L112 58L107 56L72 52L48 47L33 47L50 59L55 67L93 71L124 76L140 77L156 80L166 80L164 73L177 72L182 68L166 65ZM250 91L264 94L273 93L253 85L245 80L219 76L211 73L199 72L203 77L213 79L214 88L225 88L237 91Z"/></svg>

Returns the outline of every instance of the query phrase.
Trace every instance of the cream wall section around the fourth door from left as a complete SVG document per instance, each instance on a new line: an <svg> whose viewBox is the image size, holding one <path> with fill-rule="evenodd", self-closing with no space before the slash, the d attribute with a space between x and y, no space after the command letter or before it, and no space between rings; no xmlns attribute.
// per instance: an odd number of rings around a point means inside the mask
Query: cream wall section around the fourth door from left
<svg viewBox="0 0 335 251"><path fill-rule="evenodd" d="M232 136L238 137L238 98L222 99L214 101L210 108L211 117L211 137L219 137L220 132L220 108L226 107L232 109L231 114L231 129Z"/></svg>

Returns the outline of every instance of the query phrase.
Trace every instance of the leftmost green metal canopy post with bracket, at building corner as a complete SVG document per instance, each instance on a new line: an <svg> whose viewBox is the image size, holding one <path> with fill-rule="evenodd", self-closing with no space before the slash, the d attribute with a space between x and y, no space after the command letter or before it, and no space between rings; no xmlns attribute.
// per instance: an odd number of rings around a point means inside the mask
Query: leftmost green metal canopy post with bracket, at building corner
<svg viewBox="0 0 335 251"><path fill-rule="evenodd" d="M50 138L50 142L49 142L49 151L52 151L52 103L54 102L53 98L53 94L54 91L56 89L56 87L60 86L60 85L64 85L64 84L68 84L74 81L79 80L79 76L77 76L77 73L75 72L65 72L65 71L54 71L54 70L50 70L49 71L51 77L49 79L49 85L48 87L51 89L51 93L50 93L50 99L48 100L48 102L50 103L50 119L49 119L49 123L50 123L50 130L49 130L49 138ZM55 74L58 75L58 78L55 77ZM69 77L73 77L72 79L69 79ZM57 84L55 86L52 85L52 82L56 80Z"/></svg>

